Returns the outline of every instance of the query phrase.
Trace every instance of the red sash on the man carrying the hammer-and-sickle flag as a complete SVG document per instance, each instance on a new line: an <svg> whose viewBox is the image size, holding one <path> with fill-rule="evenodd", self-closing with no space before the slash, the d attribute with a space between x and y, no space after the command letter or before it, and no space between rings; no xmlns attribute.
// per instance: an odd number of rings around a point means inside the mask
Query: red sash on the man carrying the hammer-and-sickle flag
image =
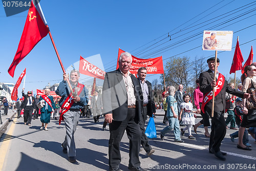
<svg viewBox="0 0 256 171"><path fill-rule="evenodd" d="M80 84L79 82L77 83L77 88L78 88L77 95L78 96L82 92L83 87L84 87L83 84ZM74 92L74 89L73 89L73 92ZM63 114L65 114L71 108L73 103L74 103L74 98L73 98L73 95L72 95L72 92L71 92L69 94L68 98L61 105L61 108L60 108L61 113L60 113L60 116L59 116L59 124L60 124L61 120L64 121Z"/></svg>

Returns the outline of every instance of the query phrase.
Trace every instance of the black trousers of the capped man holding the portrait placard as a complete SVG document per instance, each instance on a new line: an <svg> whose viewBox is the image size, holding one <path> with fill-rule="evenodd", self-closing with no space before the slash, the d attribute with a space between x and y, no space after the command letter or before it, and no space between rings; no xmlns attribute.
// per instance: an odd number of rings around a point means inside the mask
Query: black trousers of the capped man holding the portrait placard
<svg viewBox="0 0 256 171"><path fill-rule="evenodd" d="M206 111L205 114L210 116L211 111ZM226 135L226 123L224 112L215 111L214 117L211 117L211 133L209 150L212 148L215 152L220 151L221 141Z"/></svg>

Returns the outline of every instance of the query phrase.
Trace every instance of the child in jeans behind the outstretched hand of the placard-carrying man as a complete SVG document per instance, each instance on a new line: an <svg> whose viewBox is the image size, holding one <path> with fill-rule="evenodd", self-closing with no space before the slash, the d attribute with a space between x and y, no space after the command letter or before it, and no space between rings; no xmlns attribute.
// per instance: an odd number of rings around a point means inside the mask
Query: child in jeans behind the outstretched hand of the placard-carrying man
<svg viewBox="0 0 256 171"><path fill-rule="evenodd" d="M236 108L234 108L234 115L236 116L236 123L238 125L238 127L240 127L241 123L242 123L242 120L243 120L243 102L242 102L242 98L237 98L236 99L236 102L237 102L237 106ZM237 132L234 132L233 134L230 134L230 139L232 142L234 142L234 138L238 138L238 131ZM248 131L245 129L244 131L244 136L243 136L243 144L245 146L248 146L250 147L251 144L248 143L249 142L249 138L248 138Z"/></svg>

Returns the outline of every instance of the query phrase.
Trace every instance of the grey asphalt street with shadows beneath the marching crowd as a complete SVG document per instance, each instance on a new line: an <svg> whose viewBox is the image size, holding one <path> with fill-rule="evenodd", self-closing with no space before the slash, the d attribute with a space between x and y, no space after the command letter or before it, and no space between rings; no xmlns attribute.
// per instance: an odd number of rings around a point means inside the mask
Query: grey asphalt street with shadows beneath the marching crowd
<svg viewBox="0 0 256 171"><path fill-rule="evenodd" d="M10 111L10 110L9 110ZM187 132L181 138L185 143L174 142L173 131L160 139L160 131L164 111L158 110L155 119L157 138L150 144L156 152L147 157L145 151L140 152L141 167L148 170L256 170L256 143L249 136L252 151L238 149L231 142L229 134L235 130L227 130L222 142L222 151L227 152L226 161L221 161L208 153L209 138L204 136L203 126L198 134L192 132L197 140L188 139ZM160 115L161 114L161 115ZM198 122L201 118L197 118ZM93 118L80 118L75 133L77 163L70 163L67 154L62 153L61 143L65 138L65 125L52 119L49 131L39 131L41 122L32 120L31 126L24 125L23 118L16 115L5 127L0 141L0 170L108 170L109 127L102 131L103 118L94 123ZM184 126L182 126L184 127ZM121 170L127 170L129 163L129 140L124 135L121 145ZM240 165L239 165L240 164ZM254 166L254 168L248 168ZM246 167L247 166L247 167Z"/></svg>

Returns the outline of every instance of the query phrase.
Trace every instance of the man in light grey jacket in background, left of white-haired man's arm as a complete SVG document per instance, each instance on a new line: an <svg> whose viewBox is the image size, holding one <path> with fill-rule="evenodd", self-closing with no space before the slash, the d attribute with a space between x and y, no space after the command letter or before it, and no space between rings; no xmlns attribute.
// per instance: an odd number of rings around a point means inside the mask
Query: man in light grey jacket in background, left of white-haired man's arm
<svg viewBox="0 0 256 171"><path fill-rule="evenodd" d="M91 109L93 113L94 122L99 122L99 116L101 115L102 110L102 98L98 96L98 90L95 90L94 96L91 99Z"/></svg>

